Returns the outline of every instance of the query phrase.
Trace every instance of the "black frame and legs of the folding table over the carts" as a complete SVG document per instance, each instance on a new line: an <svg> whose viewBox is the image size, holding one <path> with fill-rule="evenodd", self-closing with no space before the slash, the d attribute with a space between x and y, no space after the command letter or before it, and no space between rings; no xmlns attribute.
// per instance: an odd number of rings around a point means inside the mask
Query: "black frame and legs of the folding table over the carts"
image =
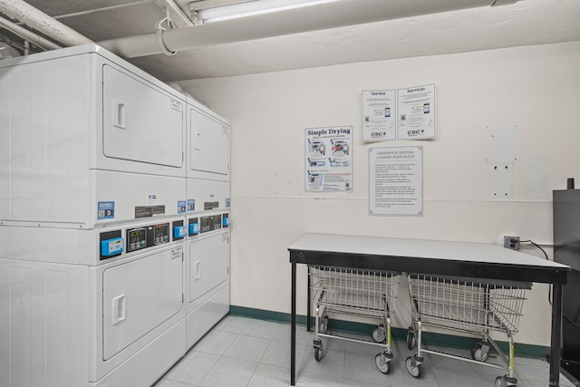
<svg viewBox="0 0 580 387"><path fill-rule="evenodd" d="M550 346L550 386L559 386L560 348L562 327L562 286L567 281L567 271L546 266L515 266L438 258L336 253L289 248L292 264L292 312L290 384L296 382L296 265L353 267L370 270L420 272L440 276L464 276L512 281L527 281L553 285L552 327ZM310 300L308 300L307 322L310 324Z"/></svg>

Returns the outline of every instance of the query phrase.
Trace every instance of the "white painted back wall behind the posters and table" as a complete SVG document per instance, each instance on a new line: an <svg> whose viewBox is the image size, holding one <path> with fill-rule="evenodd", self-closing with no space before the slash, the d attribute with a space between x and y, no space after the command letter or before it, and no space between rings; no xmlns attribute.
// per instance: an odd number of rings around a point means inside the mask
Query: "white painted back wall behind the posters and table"
<svg viewBox="0 0 580 387"><path fill-rule="evenodd" d="M296 51L299 54L299 51ZM435 140L362 142L361 91L435 83ZM580 42L182 82L232 123L232 305L290 312L287 247L306 232L498 244L552 243L552 189L580 185ZM304 129L353 125L353 193L304 192ZM491 198L486 128L517 125L514 197ZM424 216L368 216L368 149L421 145ZM546 160L527 197L526 163ZM542 256L536 248L523 251ZM547 249L551 256L551 249ZM305 314L305 271L298 313ZM407 327L401 286L394 325ZM547 286L534 285L519 343L549 345Z"/></svg>

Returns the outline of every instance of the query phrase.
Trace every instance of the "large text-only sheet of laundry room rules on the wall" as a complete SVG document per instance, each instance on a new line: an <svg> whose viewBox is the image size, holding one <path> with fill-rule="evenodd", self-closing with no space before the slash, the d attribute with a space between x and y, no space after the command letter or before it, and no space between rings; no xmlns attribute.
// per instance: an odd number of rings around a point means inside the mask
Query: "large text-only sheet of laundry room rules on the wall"
<svg viewBox="0 0 580 387"><path fill-rule="evenodd" d="M423 215L423 148L369 150L369 214Z"/></svg>

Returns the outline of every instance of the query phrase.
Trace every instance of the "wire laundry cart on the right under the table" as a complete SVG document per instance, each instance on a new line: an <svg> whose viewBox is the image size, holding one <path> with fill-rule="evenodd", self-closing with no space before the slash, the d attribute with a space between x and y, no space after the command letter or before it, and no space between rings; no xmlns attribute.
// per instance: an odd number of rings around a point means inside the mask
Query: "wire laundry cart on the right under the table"
<svg viewBox="0 0 580 387"><path fill-rule="evenodd" d="M531 283L457 278L441 276L409 275L412 325L407 333L407 346L417 346L417 354L405 362L407 371L415 378L421 376L423 353L442 355L471 363L480 363L507 371L498 376L496 385L515 386L514 334L521 317L526 290ZM478 334L481 339L471 349L471 359L449 353L423 348L423 326L435 326L447 330ZM507 355L489 336L490 332L507 334ZM505 363L484 363L494 347L498 357Z"/></svg>

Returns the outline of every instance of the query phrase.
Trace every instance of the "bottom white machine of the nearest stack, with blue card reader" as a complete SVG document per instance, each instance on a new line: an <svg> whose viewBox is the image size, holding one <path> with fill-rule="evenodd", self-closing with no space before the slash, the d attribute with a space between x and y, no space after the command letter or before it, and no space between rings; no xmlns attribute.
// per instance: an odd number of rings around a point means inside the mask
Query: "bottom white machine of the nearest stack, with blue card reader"
<svg viewBox="0 0 580 387"><path fill-rule="evenodd" d="M0 385L159 379L186 352L185 230L184 218L84 230L76 253L92 266L2 255Z"/></svg>

